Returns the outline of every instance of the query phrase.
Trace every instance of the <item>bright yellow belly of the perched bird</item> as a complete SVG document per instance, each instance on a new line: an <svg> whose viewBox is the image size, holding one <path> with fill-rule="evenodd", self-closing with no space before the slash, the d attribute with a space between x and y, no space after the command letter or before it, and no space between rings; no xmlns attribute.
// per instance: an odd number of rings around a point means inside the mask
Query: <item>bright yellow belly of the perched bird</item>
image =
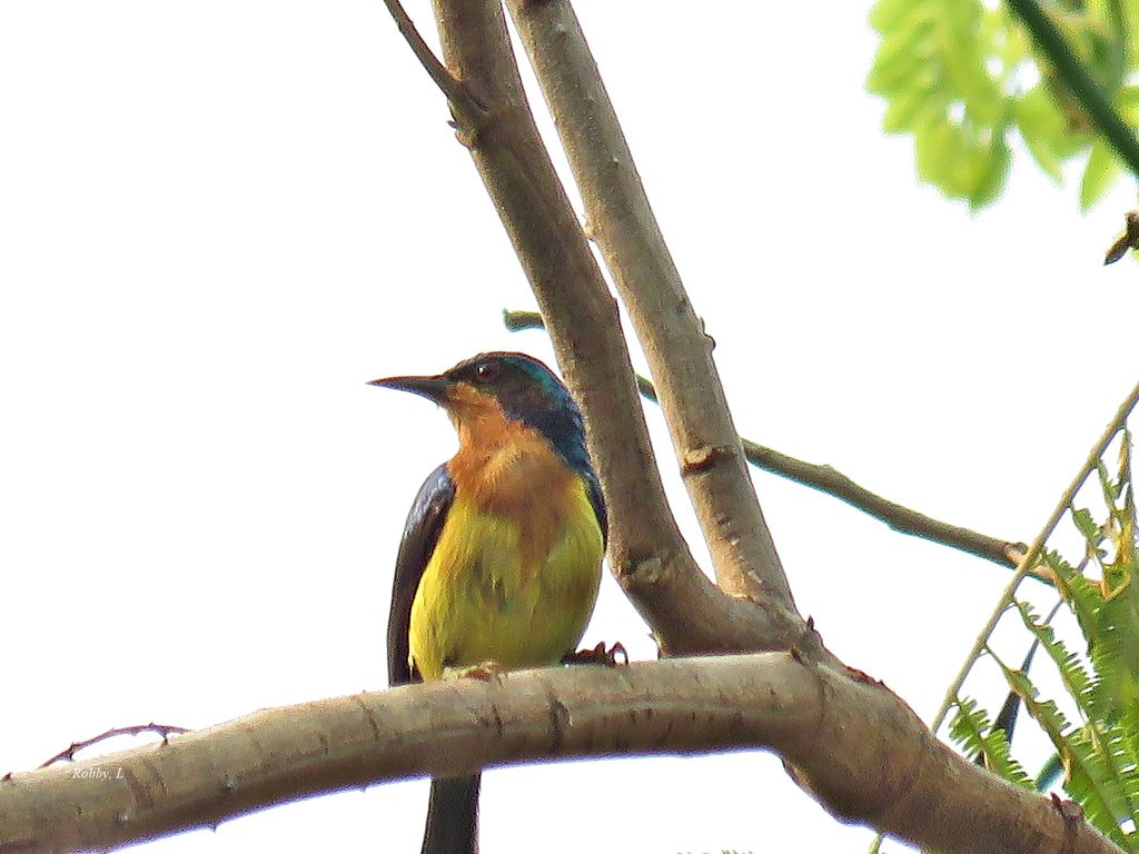
<svg viewBox="0 0 1139 854"><path fill-rule="evenodd" d="M550 545L535 555L522 526L456 495L411 606L409 658L423 679L486 662L542 666L574 650L601 580L601 531L577 477L536 512Z"/></svg>

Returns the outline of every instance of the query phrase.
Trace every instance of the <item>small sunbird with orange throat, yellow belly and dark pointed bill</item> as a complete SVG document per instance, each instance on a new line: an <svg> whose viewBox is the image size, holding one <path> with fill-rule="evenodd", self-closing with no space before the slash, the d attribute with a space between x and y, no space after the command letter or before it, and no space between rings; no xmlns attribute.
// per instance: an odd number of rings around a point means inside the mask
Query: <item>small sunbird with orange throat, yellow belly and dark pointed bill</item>
<svg viewBox="0 0 1139 854"><path fill-rule="evenodd" d="M536 359L486 353L371 385L434 401L459 434L419 490L387 621L393 685L469 667L556 664L597 599L605 503L581 412ZM478 775L432 780L424 854L478 848Z"/></svg>

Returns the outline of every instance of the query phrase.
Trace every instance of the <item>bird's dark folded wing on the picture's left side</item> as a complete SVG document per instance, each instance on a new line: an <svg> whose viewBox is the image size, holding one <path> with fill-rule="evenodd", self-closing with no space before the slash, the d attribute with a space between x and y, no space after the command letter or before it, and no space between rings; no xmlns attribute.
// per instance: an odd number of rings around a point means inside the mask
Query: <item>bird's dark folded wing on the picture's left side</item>
<svg viewBox="0 0 1139 854"><path fill-rule="evenodd" d="M411 602L419 580L431 560L448 510L454 501L454 483L444 462L432 471L419 487L400 541L395 558L395 581L392 583L392 610L387 616L387 682L393 685L418 681L408 665L408 630L411 625Z"/></svg>

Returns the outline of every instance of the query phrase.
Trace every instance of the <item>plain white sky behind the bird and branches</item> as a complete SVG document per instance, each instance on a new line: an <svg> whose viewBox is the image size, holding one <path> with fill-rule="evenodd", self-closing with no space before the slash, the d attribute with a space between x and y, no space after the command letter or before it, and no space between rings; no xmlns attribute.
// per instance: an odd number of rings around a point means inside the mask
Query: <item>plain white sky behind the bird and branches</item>
<svg viewBox="0 0 1139 854"><path fill-rule="evenodd" d="M1136 266L1100 266L1133 189L1081 216L1023 158L977 216L918 187L862 90L866 3L579 7L740 430L1031 540L1134 381ZM533 298L379 1L6 2L0 116L0 773L382 688L403 518L454 441L366 380L551 353L502 329ZM928 720L1007 572L755 479L802 610ZM645 633L607 581L587 642ZM425 804L374 787L148 849L411 852ZM493 771L482 834L869 838L759 753Z"/></svg>

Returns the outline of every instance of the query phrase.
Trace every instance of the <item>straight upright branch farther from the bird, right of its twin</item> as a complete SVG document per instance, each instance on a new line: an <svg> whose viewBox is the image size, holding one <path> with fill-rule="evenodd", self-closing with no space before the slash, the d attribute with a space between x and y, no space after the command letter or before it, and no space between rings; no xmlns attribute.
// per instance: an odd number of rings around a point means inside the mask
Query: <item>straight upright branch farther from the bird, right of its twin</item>
<svg viewBox="0 0 1139 854"><path fill-rule="evenodd" d="M729 593L794 610L712 360L567 0L508 0L617 291L661 394L685 485Z"/></svg>

